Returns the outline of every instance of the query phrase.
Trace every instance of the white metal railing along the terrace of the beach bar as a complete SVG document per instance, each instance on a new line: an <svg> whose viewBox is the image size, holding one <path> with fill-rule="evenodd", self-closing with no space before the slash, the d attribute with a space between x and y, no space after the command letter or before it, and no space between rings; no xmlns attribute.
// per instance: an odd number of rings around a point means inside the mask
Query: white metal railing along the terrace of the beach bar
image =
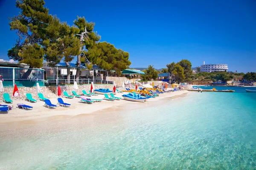
<svg viewBox="0 0 256 170"><path fill-rule="evenodd" d="M75 81L74 79L47 79L44 80L44 85L73 85ZM94 84L113 84L113 81L102 79L79 79L76 82L80 85L91 84L91 82Z"/></svg>

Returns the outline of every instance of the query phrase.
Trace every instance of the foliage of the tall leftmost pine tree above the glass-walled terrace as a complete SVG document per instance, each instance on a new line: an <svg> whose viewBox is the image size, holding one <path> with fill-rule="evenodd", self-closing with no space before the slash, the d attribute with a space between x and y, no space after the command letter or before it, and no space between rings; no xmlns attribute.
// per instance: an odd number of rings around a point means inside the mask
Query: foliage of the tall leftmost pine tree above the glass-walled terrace
<svg viewBox="0 0 256 170"><path fill-rule="evenodd" d="M48 23L52 15L44 7L44 0L17 0L20 14L12 17L10 29L16 31L18 39L14 47L8 50L8 57L29 64L32 68L43 64L44 50L41 42L44 40Z"/></svg>

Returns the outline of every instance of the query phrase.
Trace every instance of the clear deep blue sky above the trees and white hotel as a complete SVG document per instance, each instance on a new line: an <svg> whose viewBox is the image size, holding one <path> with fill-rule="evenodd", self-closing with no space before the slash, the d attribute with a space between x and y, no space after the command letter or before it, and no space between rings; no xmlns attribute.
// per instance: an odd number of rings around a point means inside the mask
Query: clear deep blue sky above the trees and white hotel
<svg viewBox="0 0 256 170"><path fill-rule="evenodd" d="M76 16L96 23L101 41L129 52L131 67L165 68L189 59L192 67L228 64L256 72L256 0L45 0L50 14L73 25ZM17 35L8 17L15 0L0 0L0 58L9 60Z"/></svg>

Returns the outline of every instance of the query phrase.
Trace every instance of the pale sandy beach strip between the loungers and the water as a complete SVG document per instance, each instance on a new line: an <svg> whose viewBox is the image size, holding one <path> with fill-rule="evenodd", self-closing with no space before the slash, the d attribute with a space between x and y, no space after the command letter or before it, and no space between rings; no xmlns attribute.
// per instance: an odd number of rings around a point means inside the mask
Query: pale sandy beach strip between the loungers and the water
<svg viewBox="0 0 256 170"><path fill-rule="evenodd" d="M80 114L99 114L109 113L114 111L125 111L131 109L137 109L142 107L152 107L154 104L159 104L158 101L166 98L179 98L185 96L189 91L175 91L171 93L160 94L156 98L148 99L148 102L131 102L124 99L116 101L102 100L102 102L94 102L93 104L81 103L80 98L67 99L63 98L64 102L70 103L70 107L57 107L47 108L44 106L44 102L39 101L36 103L27 102L23 100L14 100L10 106L13 106L12 110L8 114L0 114L0 129L7 130L10 128L20 127L22 125L37 124L40 122L49 122L53 120L69 119L73 116ZM123 93L125 94L125 92ZM117 93L115 96L121 97L121 93ZM104 95L88 97L91 99L103 99ZM57 104L57 99L50 99L52 104ZM163 100L168 102L168 100ZM17 108L17 103L24 103L26 105L33 106L33 110L23 110ZM3 102L1 104L4 104Z"/></svg>

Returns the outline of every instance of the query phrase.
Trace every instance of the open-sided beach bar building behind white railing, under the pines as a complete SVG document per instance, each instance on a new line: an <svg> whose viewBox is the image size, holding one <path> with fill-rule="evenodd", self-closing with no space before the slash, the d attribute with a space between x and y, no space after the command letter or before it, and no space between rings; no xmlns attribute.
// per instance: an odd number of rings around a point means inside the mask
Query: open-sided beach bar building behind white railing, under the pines
<svg viewBox="0 0 256 170"><path fill-rule="evenodd" d="M51 66L50 62L44 62L43 67L44 79L46 85L58 85L58 84L73 84L75 82L75 76L77 66L75 63L69 62L67 67L65 62L60 62L55 66ZM67 68L70 68L70 73L67 73ZM79 82L78 84L90 84L91 82L100 84L112 84L112 81L103 80L102 74L105 70L99 68L97 65L88 70L84 64L80 66ZM69 81L67 80L67 74L70 74ZM108 72L107 72L108 74Z"/></svg>

